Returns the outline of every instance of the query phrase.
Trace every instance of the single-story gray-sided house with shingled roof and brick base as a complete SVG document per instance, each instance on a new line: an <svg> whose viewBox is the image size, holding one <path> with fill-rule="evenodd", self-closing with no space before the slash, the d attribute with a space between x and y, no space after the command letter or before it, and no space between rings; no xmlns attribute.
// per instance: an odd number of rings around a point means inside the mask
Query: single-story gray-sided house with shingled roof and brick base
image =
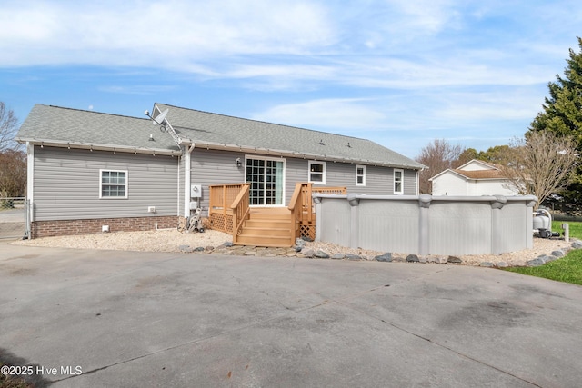
<svg viewBox="0 0 582 388"><path fill-rule="evenodd" d="M270 207L286 206L300 182L418 194L424 166L369 140L166 104L152 116L164 125L35 105L16 136L33 237L176 227L195 195L207 210L213 184L248 183L250 204Z"/></svg>

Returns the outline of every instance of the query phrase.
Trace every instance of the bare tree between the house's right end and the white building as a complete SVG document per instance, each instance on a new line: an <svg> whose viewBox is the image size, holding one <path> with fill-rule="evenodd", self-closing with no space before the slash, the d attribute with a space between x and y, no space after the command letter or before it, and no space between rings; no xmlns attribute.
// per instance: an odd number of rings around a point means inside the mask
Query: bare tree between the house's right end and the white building
<svg viewBox="0 0 582 388"><path fill-rule="evenodd" d="M445 139L435 139L420 150L420 154L416 156L416 162L428 167L419 174L420 193L431 194L432 187L428 179L447 168L458 167L457 161L463 151L460 144L450 144Z"/></svg>

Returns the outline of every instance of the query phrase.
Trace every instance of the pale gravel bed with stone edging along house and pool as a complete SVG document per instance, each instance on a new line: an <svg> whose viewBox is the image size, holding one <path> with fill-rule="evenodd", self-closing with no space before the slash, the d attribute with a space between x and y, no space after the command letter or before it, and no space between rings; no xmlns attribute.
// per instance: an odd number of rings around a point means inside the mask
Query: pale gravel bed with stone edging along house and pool
<svg viewBox="0 0 582 388"><path fill-rule="evenodd" d="M186 254L233 254L287 257L313 257L337 260L378 260L480 266L525 266L546 262L566 254L572 243L563 239L534 238L534 247L519 252L498 255L465 255L418 257L412 254L386 253L365 249L350 249L336 244L300 242L293 248L262 248L232 245L230 234L206 229L205 233L180 233L175 229L147 232L116 232L75 236L45 237L17 241L11 244L64 247L77 249L108 249L124 251L182 252ZM542 256L543 258L539 258ZM531 262L534 261L534 262ZM530 262L528 264L528 262Z"/></svg>

